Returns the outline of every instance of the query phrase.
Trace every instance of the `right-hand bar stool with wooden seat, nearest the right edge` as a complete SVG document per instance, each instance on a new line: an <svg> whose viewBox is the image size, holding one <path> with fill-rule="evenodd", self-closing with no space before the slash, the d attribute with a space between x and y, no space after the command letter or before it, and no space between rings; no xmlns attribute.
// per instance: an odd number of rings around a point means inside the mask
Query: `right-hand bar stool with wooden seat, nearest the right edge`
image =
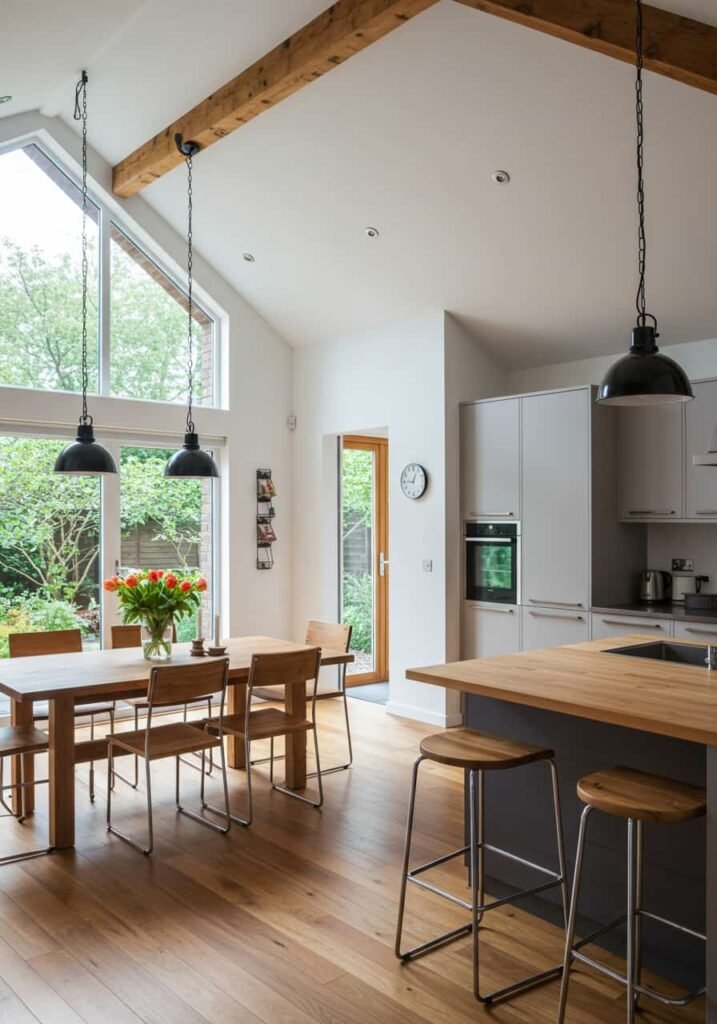
<svg viewBox="0 0 717 1024"><path fill-rule="evenodd" d="M645 821L663 823L690 821L702 817L707 811L707 794L704 790L684 782L676 782L661 775L649 775L646 772L634 771L631 768L610 768L604 771L586 775L578 782L578 796L586 805L580 821L578 837L578 855L575 865L575 881L571 899L571 913L565 937L565 957L563 962L562 984L560 986L560 1004L558 1008L558 1024L565 1019L567 1005L567 988L570 985L571 966L574 961L588 964L595 970L613 978L627 988L627 1021L635 1020L635 1010L640 995L649 996L668 1007L686 1007L699 998L705 988L688 992L678 998L671 998L663 992L641 983L641 929L642 918L657 921L669 928L691 935L705 941L705 936L690 928L668 921L656 913L650 913L642 906L642 865L643 865L643 824ZM580 885L585 856L585 840L588 830L588 819L593 810L611 814L615 817L627 819L627 913L604 925L597 931L575 941L576 918ZM621 925L627 925L627 972L619 974L581 952L583 946L594 942L600 935L611 931Z"/></svg>

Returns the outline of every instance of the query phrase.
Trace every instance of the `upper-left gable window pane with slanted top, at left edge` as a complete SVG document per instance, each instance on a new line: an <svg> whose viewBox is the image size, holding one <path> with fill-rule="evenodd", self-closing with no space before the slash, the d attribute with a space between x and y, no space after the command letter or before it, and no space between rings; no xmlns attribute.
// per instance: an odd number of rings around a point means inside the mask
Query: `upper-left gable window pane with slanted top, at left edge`
<svg viewBox="0 0 717 1024"><path fill-rule="evenodd" d="M0 384L80 389L80 189L36 145L0 156ZM97 390L99 211L88 208L90 388Z"/></svg>

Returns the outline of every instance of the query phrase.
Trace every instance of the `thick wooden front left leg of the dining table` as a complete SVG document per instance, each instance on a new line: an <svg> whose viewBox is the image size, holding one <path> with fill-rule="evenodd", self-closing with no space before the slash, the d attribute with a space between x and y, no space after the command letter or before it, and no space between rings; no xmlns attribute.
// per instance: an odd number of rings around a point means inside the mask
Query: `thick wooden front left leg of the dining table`
<svg viewBox="0 0 717 1024"><path fill-rule="evenodd" d="M75 701L50 700L50 846L75 846Z"/></svg>

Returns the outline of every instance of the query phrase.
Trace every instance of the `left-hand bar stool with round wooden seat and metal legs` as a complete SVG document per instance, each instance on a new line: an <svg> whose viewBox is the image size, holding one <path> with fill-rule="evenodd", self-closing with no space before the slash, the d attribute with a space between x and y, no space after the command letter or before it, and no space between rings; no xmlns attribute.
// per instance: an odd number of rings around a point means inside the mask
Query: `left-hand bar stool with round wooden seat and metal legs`
<svg viewBox="0 0 717 1024"><path fill-rule="evenodd" d="M565 923L567 922L565 854L562 841L557 769L555 767L553 752L545 750L541 746L531 746L528 743L519 743L512 739L505 739L502 736L490 736L486 733L475 732L472 729L450 729L447 732L438 732L432 736L426 736L426 738L421 741L420 751L421 753L414 764L413 782L411 785L411 797L409 800L409 816L406 829L406 852L404 855L404 870L400 886L400 899L398 903L398 923L395 936L395 955L398 959L404 961L404 963L408 963L409 961L415 959L417 956L431 952L433 949L438 949L449 942L453 942L456 939L460 939L463 936L470 935L472 933L473 994L480 1002L495 1002L498 999L506 998L509 995L515 995L525 989L533 988L534 985L542 984L545 981L549 981L551 978L558 977L562 972L561 965L557 965L547 971L542 971L539 974L532 975L529 978L523 978L521 981L514 982L511 985L506 985L504 988L496 989L486 995L480 992L478 926L482 920L483 913L487 913L489 910L494 910L496 907L504 906L507 903L515 903L517 900L526 896L545 892L548 889L553 889L556 886L559 886L562 894L563 916ZM467 846L461 847L460 850L454 850L452 853L446 853L425 864L420 864L418 867L410 868L409 864L411 858L414 810L416 806L418 770L424 761L434 761L442 765L452 765L453 767L462 768L464 771L468 772L469 842ZM535 864L522 857L518 857L514 853L510 853L508 850L502 850L498 847L491 846L486 842L484 838L486 773L491 771L505 771L509 768L520 768L523 765L536 763L547 764L550 769L553 812L555 818L555 841L558 860L557 871L544 867L541 864ZM541 874L547 876L549 881L541 882L538 885L532 886L530 889L523 889L511 896L504 896L501 899L492 900L487 903L484 894L487 850L490 850L492 853L500 854L503 857L507 857L509 860L522 864L525 867L534 868ZM468 853L470 857L470 901L461 899L453 893L449 893L445 889L440 889L437 886L418 878L418 876L422 874L423 871L427 871L431 867L437 867L439 864L445 864L448 861L453 860L454 857L460 857L466 853ZM419 886L421 889L434 893L436 896L442 896L445 899L450 900L457 906L470 910L470 922L462 925L460 928L453 929L453 931L446 932L444 935L439 935L434 939L429 939L427 942L423 942L421 945L415 946L413 949L405 951L402 950L400 939L404 927L406 893L409 882Z"/></svg>

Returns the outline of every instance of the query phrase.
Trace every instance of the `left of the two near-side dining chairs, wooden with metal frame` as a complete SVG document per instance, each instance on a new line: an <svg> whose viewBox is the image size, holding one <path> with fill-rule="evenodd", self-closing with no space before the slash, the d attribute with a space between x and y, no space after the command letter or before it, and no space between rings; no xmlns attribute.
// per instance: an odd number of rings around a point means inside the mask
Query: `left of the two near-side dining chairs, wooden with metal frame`
<svg viewBox="0 0 717 1024"><path fill-rule="evenodd" d="M200 824L214 831L226 834L231 825L229 815L229 792L226 780L226 759L223 744L224 699L226 697L226 682L228 678L228 658L212 658L199 665L167 665L155 666L150 676L150 686L146 696L146 726L134 732L113 732L108 736L108 771L112 778L115 774L115 751L135 754L144 759L146 779L146 814L147 814L147 845L132 839L112 822L112 785L108 786L108 831L129 843L135 850L150 855L154 849L154 824L152 813L152 762L164 758L174 758L176 761L175 802L177 811L199 821ZM172 722L168 725L152 725L152 719L157 710L205 699L219 694L219 716L216 728L210 733L202 728L200 723ZM196 811L187 811L180 801L179 766L181 756L200 752L203 756L210 750L218 750L221 763L221 779L224 791L224 810L218 811L226 820L226 825L218 825L209 821ZM204 805L205 772L202 771L202 803Z"/></svg>

